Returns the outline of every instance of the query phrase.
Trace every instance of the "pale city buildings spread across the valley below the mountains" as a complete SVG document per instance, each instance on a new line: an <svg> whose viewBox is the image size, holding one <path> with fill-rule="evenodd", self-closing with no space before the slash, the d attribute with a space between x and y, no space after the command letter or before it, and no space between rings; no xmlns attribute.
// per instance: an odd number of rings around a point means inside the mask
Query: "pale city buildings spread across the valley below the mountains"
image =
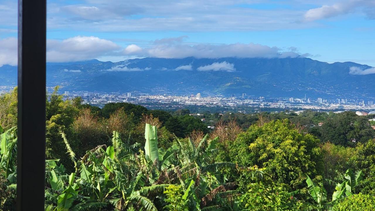
<svg viewBox="0 0 375 211"><path fill-rule="evenodd" d="M183 106L196 105L205 107L236 107L250 106L260 108L280 108L280 109L314 109L314 110L363 110L369 111L375 109L372 100L354 100L354 99L323 99L318 97L311 99L306 97L264 97L249 96L243 93L237 97L231 94L228 97L223 96L202 96L201 93L191 94L189 96L172 96L140 94L140 93L90 93L84 91L65 91L66 97L80 96L83 103L89 103L96 106L103 106L110 102L129 102L138 105L158 105L168 108L181 108Z"/></svg>

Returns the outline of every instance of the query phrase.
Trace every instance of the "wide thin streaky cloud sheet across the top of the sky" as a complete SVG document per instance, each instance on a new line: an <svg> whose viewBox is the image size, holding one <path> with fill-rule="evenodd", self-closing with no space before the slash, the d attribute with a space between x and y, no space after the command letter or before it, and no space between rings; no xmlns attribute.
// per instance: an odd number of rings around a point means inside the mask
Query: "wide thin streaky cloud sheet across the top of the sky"
<svg viewBox="0 0 375 211"><path fill-rule="evenodd" d="M289 3L293 6L287 8L284 5L288 2L275 1L272 4L280 8L252 8L252 4L260 2L259 0L86 0L78 5L54 2L48 6L47 23L49 28L96 32L256 31L306 28L316 25L300 21L305 12L300 8L306 8L306 3Z"/></svg>

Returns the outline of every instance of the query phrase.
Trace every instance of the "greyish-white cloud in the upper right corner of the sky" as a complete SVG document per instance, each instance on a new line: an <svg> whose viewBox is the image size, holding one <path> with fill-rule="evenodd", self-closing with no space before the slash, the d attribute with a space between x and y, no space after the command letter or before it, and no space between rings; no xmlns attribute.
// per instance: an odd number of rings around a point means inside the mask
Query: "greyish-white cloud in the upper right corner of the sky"
<svg viewBox="0 0 375 211"><path fill-rule="evenodd" d="M347 0L332 5L323 5L318 8L309 9L305 13L307 21L315 21L318 19L332 18L339 15L356 12L357 8L363 8L363 12L368 18L375 18L374 15L374 0Z"/></svg>

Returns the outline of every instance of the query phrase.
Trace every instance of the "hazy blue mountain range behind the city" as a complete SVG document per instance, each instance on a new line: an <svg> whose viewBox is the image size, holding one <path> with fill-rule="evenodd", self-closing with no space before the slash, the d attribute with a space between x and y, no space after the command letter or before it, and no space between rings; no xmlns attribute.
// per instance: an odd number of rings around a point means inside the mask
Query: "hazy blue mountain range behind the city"
<svg viewBox="0 0 375 211"><path fill-rule="evenodd" d="M375 74L361 75L374 68L305 57L88 60L47 63L46 69L47 86L63 91L349 99L372 99L375 93ZM0 67L0 79L15 85L17 67Z"/></svg>

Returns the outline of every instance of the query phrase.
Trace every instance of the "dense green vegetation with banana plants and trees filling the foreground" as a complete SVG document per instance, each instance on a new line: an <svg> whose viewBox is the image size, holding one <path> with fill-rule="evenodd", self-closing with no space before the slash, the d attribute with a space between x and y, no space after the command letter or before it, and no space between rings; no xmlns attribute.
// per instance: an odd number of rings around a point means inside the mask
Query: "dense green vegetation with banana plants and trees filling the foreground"
<svg viewBox="0 0 375 211"><path fill-rule="evenodd" d="M375 211L374 116L81 102L46 96L46 211ZM0 126L0 210L14 210L17 88Z"/></svg>

